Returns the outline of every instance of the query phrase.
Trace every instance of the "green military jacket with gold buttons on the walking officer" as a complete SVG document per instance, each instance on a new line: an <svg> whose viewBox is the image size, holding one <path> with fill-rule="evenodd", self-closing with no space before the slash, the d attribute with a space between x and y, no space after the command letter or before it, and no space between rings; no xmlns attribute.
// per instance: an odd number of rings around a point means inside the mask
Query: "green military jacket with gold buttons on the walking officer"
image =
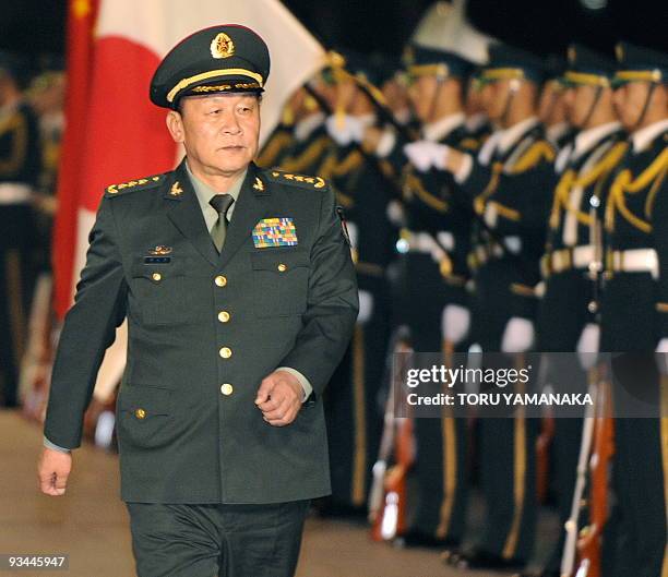
<svg viewBox="0 0 668 577"><path fill-rule="evenodd" d="M264 220L275 218L283 219L278 231ZM105 349L127 316L117 402L124 501L275 503L327 494L322 392L358 300L326 182L251 165L218 254L182 163L109 187L90 241L60 337L45 435L80 445ZM253 402L277 366L298 370L313 386L287 426L266 423Z"/></svg>

